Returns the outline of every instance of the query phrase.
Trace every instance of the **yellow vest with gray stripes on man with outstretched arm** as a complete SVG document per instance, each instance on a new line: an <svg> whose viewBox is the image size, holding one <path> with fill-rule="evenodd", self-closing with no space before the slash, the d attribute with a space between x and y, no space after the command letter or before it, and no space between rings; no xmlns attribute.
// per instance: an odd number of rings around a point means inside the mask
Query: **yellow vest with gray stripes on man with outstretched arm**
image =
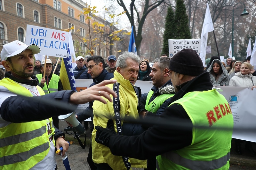
<svg viewBox="0 0 256 170"><path fill-rule="evenodd" d="M28 89L9 78L0 80L0 86L18 95L33 96ZM40 95L44 95L39 86L36 88ZM48 122L52 131L49 135ZM36 122L10 123L0 128L0 169L30 169L35 166L48 154L51 135L55 144L54 130L52 118Z"/></svg>

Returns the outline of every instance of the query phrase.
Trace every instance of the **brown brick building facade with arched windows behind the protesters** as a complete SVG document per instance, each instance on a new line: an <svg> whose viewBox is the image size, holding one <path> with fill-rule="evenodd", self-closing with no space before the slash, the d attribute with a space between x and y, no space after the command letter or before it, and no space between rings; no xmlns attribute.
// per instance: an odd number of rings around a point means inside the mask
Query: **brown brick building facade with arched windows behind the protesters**
<svg viewBox="0 0 256 170"><path fill-rule="evenodd" d="M27 25L58 30L74 26L72 38L75 51L80 55L90 55L88 48L92 47L83 41L88 34L88 23L82 13L86 5L81 0L0 0L0 51L8 42L25 42ZM103 22L104 25L110 24L97 16L93 20ZM103 58L109 54L118 56L118 44L115 42L113 48L102 46L100 51L93 47L93 55L101 55Z"/></svg>

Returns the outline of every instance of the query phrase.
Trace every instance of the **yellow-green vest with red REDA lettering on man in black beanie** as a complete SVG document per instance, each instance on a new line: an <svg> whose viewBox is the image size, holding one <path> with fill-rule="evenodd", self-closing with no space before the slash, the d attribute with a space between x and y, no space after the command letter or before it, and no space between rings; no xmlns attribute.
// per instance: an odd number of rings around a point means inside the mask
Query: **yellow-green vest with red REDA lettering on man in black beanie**
<svg viewBox="0 0 256 170"><path fill-rule="evenodd" d="M188 92L172 104L181 105L195 127L189 146L157 156L160 169L228 169L232 130L217 130L223 126L233 129L225 97L216 90Z"/></svg>

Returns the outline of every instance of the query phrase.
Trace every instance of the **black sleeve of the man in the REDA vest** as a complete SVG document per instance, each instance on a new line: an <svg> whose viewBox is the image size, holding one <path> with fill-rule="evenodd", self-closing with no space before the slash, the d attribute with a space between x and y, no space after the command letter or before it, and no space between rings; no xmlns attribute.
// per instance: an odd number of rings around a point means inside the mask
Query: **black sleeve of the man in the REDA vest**
<svg viewBox="0 0 256 170"><path fill-rule="evenodd" d="M156 125L140 136L112 136L109 148L113 155L143 160L181 149L191 143L192 122L181 105L173 104L164 110Z"/></svg>

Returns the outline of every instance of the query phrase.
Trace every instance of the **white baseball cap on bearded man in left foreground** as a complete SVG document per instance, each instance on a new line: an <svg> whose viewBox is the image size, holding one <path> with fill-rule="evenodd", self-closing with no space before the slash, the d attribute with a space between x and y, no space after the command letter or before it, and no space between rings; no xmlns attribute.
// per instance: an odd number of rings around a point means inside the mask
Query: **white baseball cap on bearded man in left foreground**
<svg viewBox="0 0 256 170"><path fill-rule="evenodd" d="M8 57L13 57L25 51L26 49L30 49L33 54L40 53L40 48L36 44L27 45L21 41L12 41L8 44L4 44L3 49L1 51L1 59L5 61Z"/></svg>

